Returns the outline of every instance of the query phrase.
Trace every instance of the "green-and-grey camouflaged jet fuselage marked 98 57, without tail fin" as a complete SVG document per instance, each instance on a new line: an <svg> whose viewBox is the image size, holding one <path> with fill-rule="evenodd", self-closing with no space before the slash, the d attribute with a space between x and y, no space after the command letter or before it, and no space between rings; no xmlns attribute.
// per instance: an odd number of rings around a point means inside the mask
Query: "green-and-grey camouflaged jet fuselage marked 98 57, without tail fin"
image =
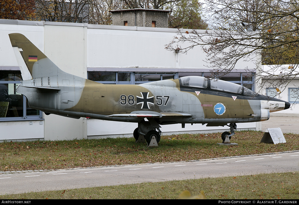
<svg viewBox="0 0 299 205"><path fill-rule="evenodd" d="M203 77L193 78L210 81ZM244 87L240 94L236 94L209 87L186 87L180 81L167 79L141 85L105 85L77 77L74 82L67 79L57 82L56 88L60 90L55 92L42 89L33 92L35 88L22 87L23 81L18 92L28 98L30 107L48 113L126 122L140 122L152 114L150 117L156 118L159 124L209 123L217 126L256 122L268 120L270 112L286 108L286 102L282 100L270 100L259 94L246 96Z"/></svg>

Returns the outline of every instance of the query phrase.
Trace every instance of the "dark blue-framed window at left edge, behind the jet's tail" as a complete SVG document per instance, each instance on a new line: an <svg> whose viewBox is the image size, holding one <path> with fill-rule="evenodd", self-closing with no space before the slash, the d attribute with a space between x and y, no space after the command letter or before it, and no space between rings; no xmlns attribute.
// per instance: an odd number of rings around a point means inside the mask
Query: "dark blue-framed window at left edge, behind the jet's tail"
<svg viewBox="0 0 299 205"><path fill-rule="evenodd" d="M1 70L0 121L42 118L42 112L29 108L26 97L16 92L21 80L20 71Z"/></svg>

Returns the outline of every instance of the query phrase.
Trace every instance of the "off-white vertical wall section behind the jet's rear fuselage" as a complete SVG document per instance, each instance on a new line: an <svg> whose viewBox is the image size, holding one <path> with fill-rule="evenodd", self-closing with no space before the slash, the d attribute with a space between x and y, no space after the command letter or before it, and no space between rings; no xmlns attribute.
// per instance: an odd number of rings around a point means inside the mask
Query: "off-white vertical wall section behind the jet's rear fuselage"
<svg viewBox="0 0 299 205"><path fill-rule="evenodd" d="M57 25L45 22L45 55L62 71L87 77L86 24ZM73 26L76 25L76 26ZM45 138L67 140L86 138L83 118L73 119L54 114L45 115Z"/></svg>

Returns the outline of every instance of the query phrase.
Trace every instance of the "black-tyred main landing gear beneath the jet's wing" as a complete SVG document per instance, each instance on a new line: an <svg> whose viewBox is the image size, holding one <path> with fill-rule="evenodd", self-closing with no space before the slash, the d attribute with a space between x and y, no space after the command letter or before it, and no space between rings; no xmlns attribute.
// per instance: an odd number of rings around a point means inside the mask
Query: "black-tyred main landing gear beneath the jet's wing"
<svg viewBox="0 0 299 205"><path fill-rule="evenodd" d="M154 119L142 120L138 123L138 128L133 132L136 142L142 142L145 138L147 146L158 146L161 139L160 125Z"/></svg>

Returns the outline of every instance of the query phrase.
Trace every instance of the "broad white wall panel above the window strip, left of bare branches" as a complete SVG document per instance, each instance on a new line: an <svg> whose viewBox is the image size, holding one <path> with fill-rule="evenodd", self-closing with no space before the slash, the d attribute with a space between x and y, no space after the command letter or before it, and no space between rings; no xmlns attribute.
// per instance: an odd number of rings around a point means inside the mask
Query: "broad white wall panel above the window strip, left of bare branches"
<svg viewBox="0 0 299 205"><path fill-rule="evenodd" d="M87 67L88 68L167 68L199 69L209 72L205 67L206 55L200 46L188 53L167 51L178 30L174 28L152 28L136 26L88 25L87 30ZM205 30L198 30L204 33ZM188 35L188 34L186 34ZM255 69L254 61L239 61L235 69ZM202 72L202 71L201 71Z"/></svg>

